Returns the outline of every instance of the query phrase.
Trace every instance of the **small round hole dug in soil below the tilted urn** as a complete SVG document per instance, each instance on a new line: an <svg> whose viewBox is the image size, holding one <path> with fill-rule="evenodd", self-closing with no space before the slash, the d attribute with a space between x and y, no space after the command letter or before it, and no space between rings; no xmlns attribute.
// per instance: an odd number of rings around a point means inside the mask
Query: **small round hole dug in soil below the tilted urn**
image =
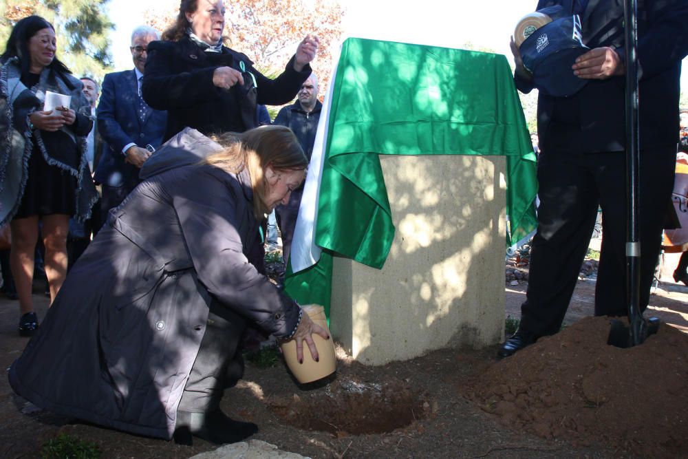
<svg viewBox="0 0 688 459"><path fill-rule="evenodd" d="M382 434L426 418L430 404L400 382L335 380L323 389L272 399L284 423L337 436Z"/></svg>

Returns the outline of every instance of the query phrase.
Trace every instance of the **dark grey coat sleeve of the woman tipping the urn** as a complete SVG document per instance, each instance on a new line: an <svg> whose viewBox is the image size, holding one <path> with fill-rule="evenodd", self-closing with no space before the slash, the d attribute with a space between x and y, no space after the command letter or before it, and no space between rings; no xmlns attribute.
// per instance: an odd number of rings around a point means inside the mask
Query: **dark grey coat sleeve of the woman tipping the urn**
<svg viewBox="0 0 688 459"><path fill-rule="evenodd" d="M248 202L239 193L207 173L173 197L186 247L199 281L220 303L277 338L288 337L297 325L299 306L244 255L247 241L238 228L246 226L241 220Z"/></svg>

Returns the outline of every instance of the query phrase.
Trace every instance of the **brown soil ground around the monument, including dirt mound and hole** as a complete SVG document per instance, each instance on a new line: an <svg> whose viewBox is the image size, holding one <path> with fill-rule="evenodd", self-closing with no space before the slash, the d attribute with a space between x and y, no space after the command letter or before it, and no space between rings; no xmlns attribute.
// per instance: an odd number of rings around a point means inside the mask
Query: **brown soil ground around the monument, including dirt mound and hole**
<svg viewBox="0 0 688 459"><path fill-rule="evenodd" d="M688 288L665 284L650 310L688 330ZM525 286L509 286L518 317ZM594 283L579 281L568 328L499 361L497 345L443 349L379 367L341 352L334 377L298 385L285 365L250 363L222 409L259 425L253 436L312 458L688 457L688 334L664 326L636 348L607 346L609 325L592 314ZM39 318L47 301L34 301ZM16 301L0 296L0 365L27 340ZM78 320L78 318L75 318ZM579 321L579 322L578 322ZM0 458L38 458L60 433L94 442L107 458L189 458L216 449L143 438L34 411L0 378Z"/></svg>

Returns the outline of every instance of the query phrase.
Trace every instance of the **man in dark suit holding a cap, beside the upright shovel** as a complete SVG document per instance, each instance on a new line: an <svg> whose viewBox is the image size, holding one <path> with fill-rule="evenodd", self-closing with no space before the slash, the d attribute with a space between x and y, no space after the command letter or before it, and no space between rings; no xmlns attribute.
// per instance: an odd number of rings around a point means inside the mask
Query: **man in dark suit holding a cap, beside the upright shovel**
<svg viewBox="0 0 688 459"><path fill-rule="evenodd" d="M539 93L538 229L530 253L526 301L519 329L499 356L561 328L597 215L603 239L595 314L624 316L625 299L625 52L620 0L541 0L537 10L561 5L579 14L590 48L572 72L589 82L566 98ZM678 141L681 60L688 54L688 0L647 0L638 5L640 124L641 308L660 248L665 203L671 195ZM518 48L515 82L533 89Z"/></svg>

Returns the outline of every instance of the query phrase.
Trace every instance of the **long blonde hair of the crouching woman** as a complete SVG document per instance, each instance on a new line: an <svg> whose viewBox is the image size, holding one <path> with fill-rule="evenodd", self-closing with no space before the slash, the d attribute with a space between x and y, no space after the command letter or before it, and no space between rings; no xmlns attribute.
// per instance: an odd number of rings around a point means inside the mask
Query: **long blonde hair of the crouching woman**
<svg viewBox="0 0 688 459"><path fill-rule="evenodd" d="M213 140L226 148L208 156L204 164L212 164L230 173L248 169L254 193L253 209L259 220L269 211L264 202L268 193L268 182L264 177L266 167L272 167L275 172L308 168L308 159L299 140L285 126L261 126L241 134L221 134Z"/></svg>

